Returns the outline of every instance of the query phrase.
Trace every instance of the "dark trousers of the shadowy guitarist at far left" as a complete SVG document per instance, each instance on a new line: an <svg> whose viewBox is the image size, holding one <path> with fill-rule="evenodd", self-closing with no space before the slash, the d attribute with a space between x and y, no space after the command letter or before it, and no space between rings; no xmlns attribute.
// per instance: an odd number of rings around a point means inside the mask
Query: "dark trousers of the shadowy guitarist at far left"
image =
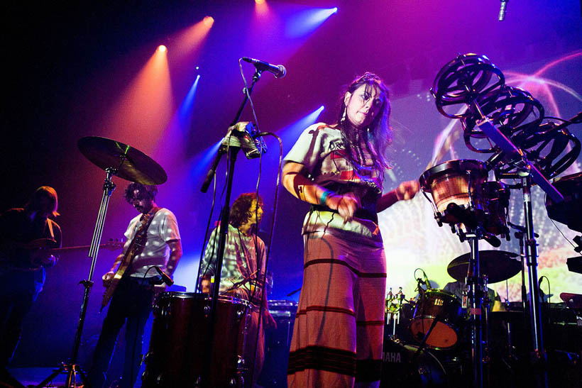
<svg viewBox="0 0 582 388"><path fill-rule="evenodd" d="M21 338L24 317L43 289L45 270L0 272L0 367L6 367Z"/></svg>

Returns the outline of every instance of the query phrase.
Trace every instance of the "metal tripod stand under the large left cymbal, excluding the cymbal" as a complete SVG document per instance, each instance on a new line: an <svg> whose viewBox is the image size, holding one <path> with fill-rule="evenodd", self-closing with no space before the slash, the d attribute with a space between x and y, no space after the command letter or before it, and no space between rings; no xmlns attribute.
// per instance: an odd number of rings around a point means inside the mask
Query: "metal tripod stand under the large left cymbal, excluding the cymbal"
<svg viewBox="0 0 582 388"><path fill-rule="evenodd" d="M121 164L125 158L121 157ZM75 331L75 342L73 343L72 355L70 360L66 362L62 362L62 365L53 371L50 376L40 382L35 388L43 388L45 387L48 382L51 382L57 375L60 375L62 372L67 372L67 379L65 387L67 388L74 388L77 387L77 380L75 375L79 373L81 377L81 382L84 384L84 387L90 388L89 382L87 381L87 376L84 374L80 365L77 365L77 355L79 354L79 345L81 344L81 334L83 331L83 326L85 322L85 316L87 315L87 305L89 304L89 292L91 291L91 287L93 286L92 277L95 270L95 263L97 262L97 253L99 253L99 244L101 243L101 235L103 234L103 227L105 223L105 215L107 213L107 207L109 206L109 199L111 197L111 193L115 189L114 182L111 181L111 178L117 174L119 170L114 167L109 167L105 170L106 177L105 182L103 184L103 196L101 197L101 204L99 205L99 212L97 214L97 223L95 224L95 229L93 232L93 238L91 240L91 246L89 248L89 257L91 257L91 269L89 270L89 277L87 280L81 280L79 284L82 284L84 287L83 293L83 301L81 304L81 311L79 314L79 322L77 323L77 330Z"/></svg>

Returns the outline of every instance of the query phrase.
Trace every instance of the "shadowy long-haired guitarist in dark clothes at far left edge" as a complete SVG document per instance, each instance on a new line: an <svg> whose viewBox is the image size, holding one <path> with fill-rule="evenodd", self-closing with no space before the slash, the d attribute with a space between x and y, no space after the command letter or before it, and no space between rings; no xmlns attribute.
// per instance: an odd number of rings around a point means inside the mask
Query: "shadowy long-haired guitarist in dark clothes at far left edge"
<svg viewBox="0 0 582 388"><path fill-rule="evenodd" d="M21 336L24 316L45 283L45 267L53 267L57 257L46 248L58 248L60 227L49 216L58 216L57 192L53 187L36 189L23 209L0 215L0 368L6 368Z"/></svg>

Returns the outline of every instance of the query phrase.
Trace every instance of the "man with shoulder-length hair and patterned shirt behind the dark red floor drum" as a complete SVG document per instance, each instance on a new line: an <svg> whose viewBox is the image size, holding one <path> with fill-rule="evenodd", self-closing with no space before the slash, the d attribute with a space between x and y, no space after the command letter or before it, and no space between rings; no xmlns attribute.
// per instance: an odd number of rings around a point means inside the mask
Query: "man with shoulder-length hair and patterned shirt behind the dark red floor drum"
<svg viewBox="0 0 582 388"><path fill-rule="evenodd" d="M220 279L221 294L229 294L250 302L251 314L243 354L246 370L248 370L245 376L246 387L255 384L263 367L265 358L263 326L276 326L273 316L269 313L267 297L263 295L266 250L265 243L256 234L262 216L263 200L260 196L257 197L255 193L244 193L235 199L229 216L229 231ZM202 260L200 284L202 292L206 293L212 293L210 284L211 277L214 277L216 272L219 229L220 226L212 231ZM263 312L259 314L261 304ZM253 375L252 382L251 375Z"/></svg>

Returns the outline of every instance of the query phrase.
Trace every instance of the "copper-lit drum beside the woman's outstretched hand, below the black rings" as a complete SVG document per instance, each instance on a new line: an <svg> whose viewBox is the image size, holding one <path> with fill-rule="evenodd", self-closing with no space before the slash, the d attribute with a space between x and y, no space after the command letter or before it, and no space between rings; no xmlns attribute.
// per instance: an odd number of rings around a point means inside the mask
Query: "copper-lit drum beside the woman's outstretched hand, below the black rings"
<svg viewBox="0 0 582 388"><path fill-rule="evenodd" d="M449 160L425 171L419 182L424 196L427 196L426 193L432 194L434 203L431 201L431 204L437 219L444 223L460 223L456 217L446 214L446 206L457 204L466 208L482 208L481 186L487 177L485 163L459 159Z"/></svg>

